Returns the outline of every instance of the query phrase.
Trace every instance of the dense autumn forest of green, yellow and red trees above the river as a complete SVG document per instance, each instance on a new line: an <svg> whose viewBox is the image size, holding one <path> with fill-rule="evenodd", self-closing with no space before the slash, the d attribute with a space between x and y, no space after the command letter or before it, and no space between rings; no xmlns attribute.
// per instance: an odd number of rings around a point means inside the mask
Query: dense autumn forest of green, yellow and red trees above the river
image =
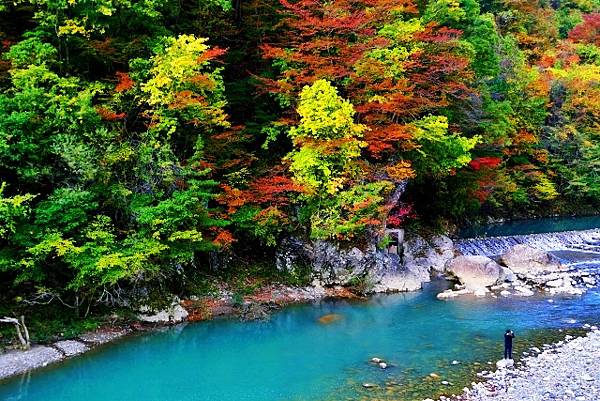
<svg viewBox="0 0 600 401"><path fill-rule="evenodd" d="M598 0L0 3L2 302L598 206Z"/></svg>

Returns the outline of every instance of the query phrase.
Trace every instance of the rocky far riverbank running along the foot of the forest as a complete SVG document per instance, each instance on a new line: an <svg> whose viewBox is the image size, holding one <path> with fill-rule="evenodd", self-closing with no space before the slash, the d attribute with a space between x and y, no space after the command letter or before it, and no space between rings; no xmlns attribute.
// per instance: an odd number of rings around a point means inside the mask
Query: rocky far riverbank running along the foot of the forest
<svg viewBox="0 0 600 401"><path fill-rule="evenodd" d="M440 299L474 294L476 296L529 296L535 291L580 295L596 285L589 272L563 266L545 251L516 245L499 259L461 255L453 241L444 235L428 239L408 234L398 253L357 248L341 250L320 243L312 248L298 243L280 253L281 269L293 270L300 258L313 261L313 282L306 287L266 285L251 295L240 296L226 287L216 296L175 298L162 310L143 307L139 322L125 328L106 328L49 345L35 345L28 351L11 350L0 354L0 379L61 361L93 347L140 330L184 321L217 317L243 320L267 318L274 309L325 298L361 298L364 294L415 291L433 276L455 280L455 288L438 295Z"/></svg>

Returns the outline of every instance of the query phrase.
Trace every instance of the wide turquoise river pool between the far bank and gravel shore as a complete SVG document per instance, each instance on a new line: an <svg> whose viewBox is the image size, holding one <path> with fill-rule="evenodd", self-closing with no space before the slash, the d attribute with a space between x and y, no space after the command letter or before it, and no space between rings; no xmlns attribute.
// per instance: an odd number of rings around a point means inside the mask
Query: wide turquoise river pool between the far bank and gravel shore
<svg viewBox="0 0 600 401"><path fill-rule="evenodd" d="M498 359L507 327L524 345L540 329L573 326L568 319L599 322L597 290L553 303L544 297L439 301L435 294L444 286L295 306L264 322L220 320L134 336L5 381L0 400L384 399L378 390L363 390L363 382L381 385L387 395L390 386L411 388L417 398L418 389L437 388L474 361ZM342 318L318 322L329 313ZM396 366L378 369L368 363L374 356ZM454 359L461 363L451 365ZM424 379L431 372L441 378Z"/></svg>

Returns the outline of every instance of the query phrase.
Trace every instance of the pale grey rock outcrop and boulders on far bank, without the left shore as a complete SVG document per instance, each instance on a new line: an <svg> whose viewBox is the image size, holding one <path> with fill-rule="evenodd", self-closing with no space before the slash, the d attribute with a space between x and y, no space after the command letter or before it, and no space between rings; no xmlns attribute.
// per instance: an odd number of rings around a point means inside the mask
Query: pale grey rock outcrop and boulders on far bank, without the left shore
<svg viewBox="0 0 600 401"><path fill-rule="evenodd" d="M569 269L547 251L530 245L514 245L497 260L462 255L459 249L447 236L426 239L414 233L405 235L399 254L375 246L343 249L333 242L289 238L279 249L277 267L286 271L310 267L317 287L359 284L367 292L418 290L432 275L455 280L455 290L440 294L440 298L530 296L535 291L577 295L596 284L591 273Z"/></svg>

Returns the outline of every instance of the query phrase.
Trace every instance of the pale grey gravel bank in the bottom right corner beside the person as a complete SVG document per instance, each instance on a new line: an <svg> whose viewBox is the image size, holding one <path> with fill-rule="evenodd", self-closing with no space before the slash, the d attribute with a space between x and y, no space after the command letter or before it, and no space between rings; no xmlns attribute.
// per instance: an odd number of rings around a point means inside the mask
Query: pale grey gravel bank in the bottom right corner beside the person
<svg viewBox="0 0 600 401"><path fill-rule="evenodd" d="M600 331L585 337L570 336L522 359L515 369L484 375L454 401L597 401L600 400Z"/></svg>

